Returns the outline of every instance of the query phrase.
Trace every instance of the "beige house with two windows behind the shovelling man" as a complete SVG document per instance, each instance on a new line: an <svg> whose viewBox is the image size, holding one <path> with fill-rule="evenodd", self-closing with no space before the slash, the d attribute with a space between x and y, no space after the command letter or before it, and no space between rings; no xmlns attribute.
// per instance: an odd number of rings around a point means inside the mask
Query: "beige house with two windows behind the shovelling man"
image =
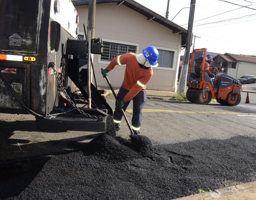
<svg viewBox="0 0 256 200"><path fill-rule="evenodd" d="M79 15L79 37L84 38L83 23L87 27L88 0L72 1ZM154 75L147 89L177 90L180 51L186 45L187 30L133 0L97 0L95 38L103 40L103 55L93 56L97 85L108 86L102 78L105 68L117 55L126 52L142 53L154 46L159 57ZM113 87L120 87L125 67L117 66L109 73Z"/></svg>

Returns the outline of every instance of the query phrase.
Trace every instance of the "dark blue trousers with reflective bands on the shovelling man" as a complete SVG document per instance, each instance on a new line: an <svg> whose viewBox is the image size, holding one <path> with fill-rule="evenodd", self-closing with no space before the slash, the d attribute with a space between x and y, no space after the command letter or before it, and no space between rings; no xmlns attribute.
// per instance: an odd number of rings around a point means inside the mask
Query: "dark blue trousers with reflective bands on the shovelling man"
<svg viewBox="0 0 256 200"><path fill-rule="evenodd" d="M120 87L119 92L117 94L117 99L120 102L124 99L125 95L129 92L129 90L126 90L123 88L123 86ZM142 108L145 105L147 98L146 98L146 90L142 89L138 94L136 94L133 99L133 116L132 116L132 129L134 133L140 133L140 127L141 127L141 118L142 118ZM123 110L125 112L126 108L128 107L130 101L127 101L124 106ZM121 121L123 117L123 114L121 110L117 106L117 102L115 102L115 111L113 114L113 118L115 121ZM120 123L115 122L116 127L120 127Z"/></svg>

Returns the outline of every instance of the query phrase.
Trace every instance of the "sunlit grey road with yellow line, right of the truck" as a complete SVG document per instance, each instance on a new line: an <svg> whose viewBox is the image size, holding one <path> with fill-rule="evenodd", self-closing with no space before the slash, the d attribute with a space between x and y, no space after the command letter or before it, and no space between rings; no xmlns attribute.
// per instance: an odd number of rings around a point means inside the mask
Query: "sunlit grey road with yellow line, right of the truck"
<svg viewBox="0 0 256 200"><path fill-rule="evenodd" d="M113 100L108 99L110 105ZM132 103L126 111L131 118ZM123 134L128 134L123 119L121 125ZM240 103L229 107L218 103L200 105L187 101L147 100L141 133L156 142L175 143L200 138L225 139L240 134L256 136L255 125L256 105Z"/></svg>

